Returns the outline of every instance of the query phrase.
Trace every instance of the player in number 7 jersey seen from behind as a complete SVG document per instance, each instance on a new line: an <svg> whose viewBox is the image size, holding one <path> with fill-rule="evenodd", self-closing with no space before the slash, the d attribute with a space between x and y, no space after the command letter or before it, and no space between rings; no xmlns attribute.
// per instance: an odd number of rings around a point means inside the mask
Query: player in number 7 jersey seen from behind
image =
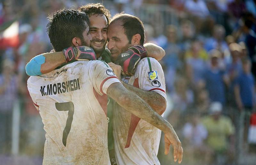
<svg viewBox="0 0 256 165"><path fill-rule="evenodd" d="M126 90L106 63L72 60L95 56L89 47L81 47L92 40L88 25L89 18L76 10L63 9L50 16L50 41L54 50L63 50L67 62L48 74L28 79L29 93L46 131L43 164L110 164L106 94L166 132L166 146L172 144L174 152L180 152L180 141L172 126Z"/></svg>

